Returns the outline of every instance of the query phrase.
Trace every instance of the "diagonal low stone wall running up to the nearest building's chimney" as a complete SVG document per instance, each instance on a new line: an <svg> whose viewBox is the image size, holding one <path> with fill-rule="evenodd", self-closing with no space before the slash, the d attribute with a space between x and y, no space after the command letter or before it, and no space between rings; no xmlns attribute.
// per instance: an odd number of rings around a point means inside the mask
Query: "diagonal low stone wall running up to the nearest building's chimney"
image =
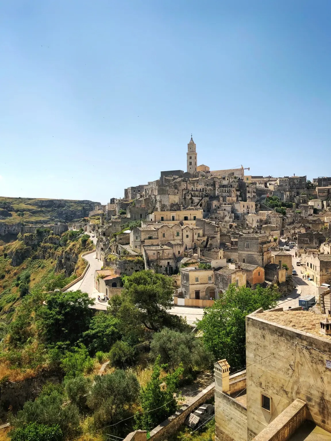
<svg viewBox="0 0 331 441"><path fill-rule="evenodd" d="M153 441L162 441L166 439L184 423L185 419L191 412L213 396L214 383L209 385L206 389L203 389L203 391L194 396L191 400L188 400L187 404L184 404L184 406L178 409L177 412L169 416L169 418L151 430L150 439L153 439Z"/></svg>

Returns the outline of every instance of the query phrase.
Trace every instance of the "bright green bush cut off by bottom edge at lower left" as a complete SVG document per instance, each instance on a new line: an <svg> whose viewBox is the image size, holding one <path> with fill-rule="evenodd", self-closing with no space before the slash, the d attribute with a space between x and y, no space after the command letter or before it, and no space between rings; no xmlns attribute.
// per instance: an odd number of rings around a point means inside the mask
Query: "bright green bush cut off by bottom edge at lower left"
<svg viewBox="0 0 331 441"><path fill-rule="evenodd" d="M58 424L46 426L31 422L24 427L11 430L11 441L61 441L62 430Z"/></svg>

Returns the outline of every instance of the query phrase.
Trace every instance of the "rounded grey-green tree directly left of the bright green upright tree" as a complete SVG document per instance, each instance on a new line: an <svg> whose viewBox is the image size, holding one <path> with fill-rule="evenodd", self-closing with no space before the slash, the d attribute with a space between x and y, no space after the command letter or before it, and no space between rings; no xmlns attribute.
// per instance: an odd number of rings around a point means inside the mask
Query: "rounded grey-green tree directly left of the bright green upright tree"
<svg viewBox="0 0 331 441"><path fill-rule="evenodd" d="M87 397L94 410L94 424L102 427L120 421L139 395L139 382L132 372L117 369L112 374L96 375Z"/></svg>

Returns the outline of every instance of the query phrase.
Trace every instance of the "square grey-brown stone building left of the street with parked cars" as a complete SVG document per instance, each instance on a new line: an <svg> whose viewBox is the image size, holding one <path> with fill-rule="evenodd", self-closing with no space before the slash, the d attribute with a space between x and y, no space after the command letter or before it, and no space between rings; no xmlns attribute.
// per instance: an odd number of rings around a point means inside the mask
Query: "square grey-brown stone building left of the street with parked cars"
<svg viewBox="0 0 331 441"><path fill-rule="evenodd" d="M270 242L266 234L244 234L238 237L238 262L265 266L271 262Z"/></svg>

